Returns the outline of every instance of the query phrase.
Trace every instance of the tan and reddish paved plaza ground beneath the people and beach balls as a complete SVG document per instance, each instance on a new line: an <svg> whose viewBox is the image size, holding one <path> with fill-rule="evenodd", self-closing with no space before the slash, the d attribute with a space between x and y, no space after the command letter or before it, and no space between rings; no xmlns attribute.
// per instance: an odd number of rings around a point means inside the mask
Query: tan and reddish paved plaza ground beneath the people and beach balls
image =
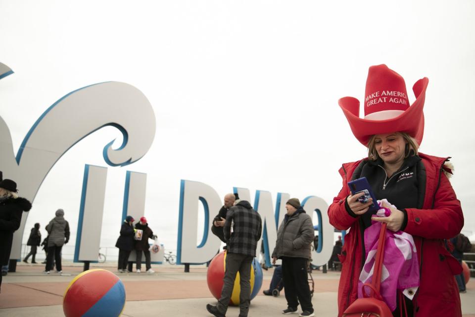
<svg viewBox="0 0 475 317"><path fill-rule="evenodd" d="M115 273L114 264L94 264L91 268L104 268ZM0 294L0 317L55 317L64 316L62 298L69 282L82 271L82 266L67 263L63 274L43 273L41 264L18 264L17 272L3 277ZM122 316L211 316L206 312L207 303L215 304L206 284L206 267L191 266L184 272L182 265L154 265L154 274L118 274L122 279L127 302ZM315 280L312 303L316 316L336 316L336 291L338 272L312 273ZM264 271L263 288L269 286L272 269ZM286 308L284 294L279 297L264 296L262 289L251 303L249 317L281 316ZM464 317L475 317L475 278L461 294ZM227 316L238 316L238 307L230 307Z"/></svg>

